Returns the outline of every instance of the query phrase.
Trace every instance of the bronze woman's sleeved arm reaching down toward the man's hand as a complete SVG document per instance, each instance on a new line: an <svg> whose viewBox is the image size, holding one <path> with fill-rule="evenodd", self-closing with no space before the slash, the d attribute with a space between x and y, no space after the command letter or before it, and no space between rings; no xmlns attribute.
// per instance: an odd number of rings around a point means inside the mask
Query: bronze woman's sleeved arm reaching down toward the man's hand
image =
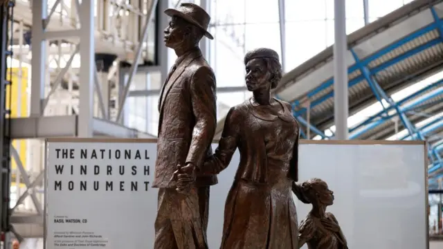
<svg viewBox="0 0 443 249"><path fill-rule="evenodd" d="M219 174L228 167L239 142L239 113L235 107L228 111L224 122L219 146L215 153L206 159L201 171L204 174Z"/></svg>

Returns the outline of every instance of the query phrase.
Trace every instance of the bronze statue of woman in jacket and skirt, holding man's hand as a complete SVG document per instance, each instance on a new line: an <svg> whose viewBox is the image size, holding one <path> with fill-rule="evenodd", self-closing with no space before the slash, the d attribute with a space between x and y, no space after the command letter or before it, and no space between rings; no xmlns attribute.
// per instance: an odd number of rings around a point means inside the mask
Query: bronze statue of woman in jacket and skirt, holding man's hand
<svg viewBox="0 0 443 249"><path fill-rule="evenodd" d="M230 109L204 174L219 174L238 148L240 162L226 199L221 249L298 248L291 186L298 179L299 125L287 102L271 98L282 77L278 54L258 48L244 57L253 97ZM192 180L176 172L179 188ZM180 185L181 184L181 185Z"/></svg>

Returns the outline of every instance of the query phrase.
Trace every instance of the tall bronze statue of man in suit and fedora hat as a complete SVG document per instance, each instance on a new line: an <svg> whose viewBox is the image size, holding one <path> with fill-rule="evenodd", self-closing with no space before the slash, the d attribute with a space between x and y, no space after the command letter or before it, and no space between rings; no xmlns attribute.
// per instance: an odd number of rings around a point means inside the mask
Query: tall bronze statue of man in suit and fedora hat
<svg viewBox="0 0 443 249"><path fill-rule="evenodd" d="M159 134L153 187L159 188L155 249L208 248L209 187L217 176L199 175L204 159L213 154L217 125L215 75L201 55L199 41L208 33L210 16L193 3L165 10L170 23L165 46L177 54L159 97ZM174 172L192 176L183 192Z"/></svg>

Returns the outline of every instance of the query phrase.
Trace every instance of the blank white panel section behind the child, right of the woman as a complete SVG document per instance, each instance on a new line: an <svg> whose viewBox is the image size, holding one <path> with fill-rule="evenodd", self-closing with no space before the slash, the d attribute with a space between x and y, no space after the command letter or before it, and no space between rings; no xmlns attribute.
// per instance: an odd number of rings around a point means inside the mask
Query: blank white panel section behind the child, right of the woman
<svg viewBox="0 0 443 249"><path fill-rule="evenodd" d="M334 191L327 211L349 248L426 248L424 145L306 144L300 155L300 182L321 178ZM298 200L296 207L299 221L311 209Z"/></svg>

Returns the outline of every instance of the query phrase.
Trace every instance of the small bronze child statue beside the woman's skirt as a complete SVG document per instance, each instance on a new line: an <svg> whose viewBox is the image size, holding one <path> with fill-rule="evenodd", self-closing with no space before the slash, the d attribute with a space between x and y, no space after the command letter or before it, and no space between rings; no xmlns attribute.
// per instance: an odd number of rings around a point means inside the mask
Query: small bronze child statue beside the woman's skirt
<svg viewBox="0 0 443 249"><path fill-rule="evenodd" d="M298 248L305 243L309 249L347 249L347 242L334 214L326 208L334 203L334 192L327 183L312 178L302 184L293 183L293 193L303 203L312 204L298 228Z"/></svg>

